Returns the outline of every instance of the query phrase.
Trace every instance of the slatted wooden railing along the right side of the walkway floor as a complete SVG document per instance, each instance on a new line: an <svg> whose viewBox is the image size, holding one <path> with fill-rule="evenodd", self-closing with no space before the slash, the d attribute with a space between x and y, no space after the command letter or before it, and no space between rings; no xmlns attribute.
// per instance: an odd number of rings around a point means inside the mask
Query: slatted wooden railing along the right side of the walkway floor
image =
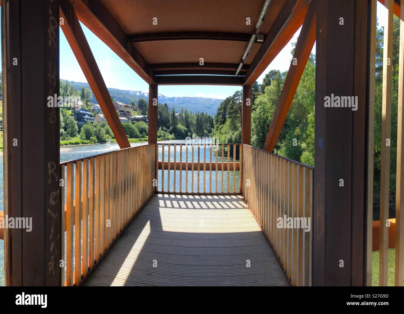
<svg viewBox="0 0 404 314"><path fill-rule="evenodd" d="M248 145L242 151L244 198L292 285L310 286L314 168Z"/></svg>

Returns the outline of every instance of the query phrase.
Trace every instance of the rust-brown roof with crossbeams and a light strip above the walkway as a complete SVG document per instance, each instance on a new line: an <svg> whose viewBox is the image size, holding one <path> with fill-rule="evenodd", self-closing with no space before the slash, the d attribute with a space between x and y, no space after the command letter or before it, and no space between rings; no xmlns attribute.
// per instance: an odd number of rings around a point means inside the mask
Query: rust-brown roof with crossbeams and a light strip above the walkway
<svg viewBox="0 0 404 314"><path fill-rule="evenodd" d="M309 0L70 2L149 84L250 85L302 25Z"/></svg>

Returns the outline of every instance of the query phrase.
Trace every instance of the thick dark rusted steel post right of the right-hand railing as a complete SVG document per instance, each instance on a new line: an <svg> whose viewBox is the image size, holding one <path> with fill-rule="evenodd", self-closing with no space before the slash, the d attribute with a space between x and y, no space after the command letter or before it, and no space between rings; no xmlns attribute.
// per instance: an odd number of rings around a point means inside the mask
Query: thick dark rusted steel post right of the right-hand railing
<svg viewBox="0 0 404 314"><path fill-rule="evenodd" d="M370 1L316 1L313 285L365 285Z"/></svg>

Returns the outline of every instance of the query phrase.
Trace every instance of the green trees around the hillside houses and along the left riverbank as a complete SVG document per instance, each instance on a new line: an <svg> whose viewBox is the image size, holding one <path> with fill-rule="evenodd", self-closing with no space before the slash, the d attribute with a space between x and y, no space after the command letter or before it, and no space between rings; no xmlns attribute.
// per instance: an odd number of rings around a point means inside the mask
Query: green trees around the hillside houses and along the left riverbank
<svg viewBox="0 0 404 314"><path fill-rule="evenodd" d="M92 92L89 88L82 88L79 90L70 84L69 81L60 80L60 96L62 97L79 97L82 100L82 106L85 109L91 110L92 103L90 102ZM111 98L114 102L115 99ZM130 110L130 115L147 115L148 114L148 101L140 98L136 104L131 100L130 105L139 107L140 110ZM119 111L117 111L119 115ZM95 116L96 113L93 113ZM135 124L123 123L122 124L126 136L128 138L137 138L147 140L147 125L145 122L136 122ZM168 105L158 104L158 139L159 140L183 140L187 136L191 137L192 134L196 136L211 136L214 127L213 117L207 113L193 114L188 112L187 109L181 109L176 112L173 108L171 111ZM87 143L105 143L108 139L114 140L114 134L109 128L108 124L104 121L98 124L87 123L81 129L78 128L77 122L74 120L74 115L69 109L60 109L60 138L62 144L87 144Z"/></svg>

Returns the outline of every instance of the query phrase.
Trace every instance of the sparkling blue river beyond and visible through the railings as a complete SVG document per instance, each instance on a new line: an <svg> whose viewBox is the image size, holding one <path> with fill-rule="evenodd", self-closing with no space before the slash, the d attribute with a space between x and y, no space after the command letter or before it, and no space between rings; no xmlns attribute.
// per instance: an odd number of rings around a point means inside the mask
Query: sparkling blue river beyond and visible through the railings
<svg viewBox="0 0 404 314"><path fill-rule="evenodd" d="M185 140L170 140L170 141L162 141L159 143L171 143L171 144L180 144L180 143L185 143ZM144 145L145 143L132 143L131 146L139 146L139 145ZM118 144L116 143L111 143L111 144L95 144L95 145L77 145L77 146L66 146L66 147L60 147L60 161L68 161L68 160L73 160L73 159L80 159L84 157L89 157L89 156L94 156L94 155L99 155L102 153L107 153L110 151L116 151L119 149ZM168 160L168 147L166 146L164 149L164 160ZM170 161L174 161L174 147L171 147L170 150ZM162 155L162 149L160 147L159 152L159 159L161 160L161 155ZM176 152L176 158L177 161L179 161L179 155L180 155L180 149L179 146L177 147L177 152ZM182 152L182 161L185 161L185 149L183 149ZM204 151L203 148L200 149L200 161L203 161L203 156L204 156ZM215 152L212 153L212 162L215 162ZM210 151L209 147L206 148L206 162L209 162L209 157L210 157ZM191 149L188 151L188 161L191 161ZM198 161L198 149L194 149L194 161ZM0 211L3 211L3 156L0 156ZM218 158L218 162L221 162L220 157ZM224 159L224 162L227 162L227 159ZM194 191L196 191L197 188L197 173L196 171L194 172ZM159 171L158 174L158 188L159 190L161 189L161 170ZM171 171L171 180L173 180L173 171ZM230 191L232 190L233 184L233 173L230 172ZM203 175L200 175L200 188L203 186ZM227 187L227 173L225 173L224 178L223 178L223 186ZM236 172L236 191L238 190L239 186L239 180L238 180L238 172ZM214 192L214 187L215 187L215 175L212 176L212 191ZM221 192L221 173L219 172L218 174L218 190ZM182 176L182 188L185 190L185 171L183 172ZM189 191L191 189L191 175L189 172L188 175L188 188ZM209 189L209 172L206 172L206 188L207 190ZM165 175L164 178L164 190L167 190L167 176ZM172 190L172 187L171 187ZM179 179L177 179L176 182L176 190L179 190ZM225 188L226 190L226 188ZM4 241L0 240L0 286L4 285Z"/></svg>

